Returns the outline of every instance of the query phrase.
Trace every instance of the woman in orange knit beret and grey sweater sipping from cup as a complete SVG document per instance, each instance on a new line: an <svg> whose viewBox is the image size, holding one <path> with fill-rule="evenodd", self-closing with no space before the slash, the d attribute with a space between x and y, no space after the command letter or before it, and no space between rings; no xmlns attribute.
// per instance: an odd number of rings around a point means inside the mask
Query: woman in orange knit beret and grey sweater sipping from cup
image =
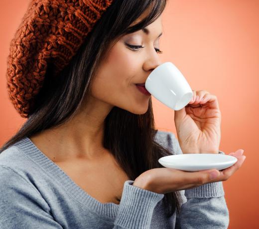
<svg viewBox="0 0 259 229"><path fill-rule="evenodd" d="M228 227L222 181L241 167L242 151L223 171L158 163L223 153L216 96L193 91L190 106L175 111L178 142L155 130L151 97L136 87L160 64L165 5L30 2L8 57L10 99L28 119L1 148L1 228Z"/></svg>

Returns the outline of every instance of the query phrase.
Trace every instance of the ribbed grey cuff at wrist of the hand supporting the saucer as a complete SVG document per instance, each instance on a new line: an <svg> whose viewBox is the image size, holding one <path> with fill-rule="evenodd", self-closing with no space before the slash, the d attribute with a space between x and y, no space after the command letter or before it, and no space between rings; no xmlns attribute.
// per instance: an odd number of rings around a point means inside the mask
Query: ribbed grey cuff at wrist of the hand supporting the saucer
<svg viewBox="0 0 259 229"><path fill-rule="evenodd" d="M124 183L123 195L114 222L122 228L149 228L153 210L164 194L154 193L133 186L133 181Z"/></svg>

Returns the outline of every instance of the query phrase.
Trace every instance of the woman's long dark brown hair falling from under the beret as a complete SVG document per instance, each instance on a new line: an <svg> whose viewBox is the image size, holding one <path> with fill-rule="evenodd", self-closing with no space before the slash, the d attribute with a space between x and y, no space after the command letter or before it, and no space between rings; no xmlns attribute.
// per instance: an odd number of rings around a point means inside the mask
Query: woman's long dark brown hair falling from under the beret
<svg viewBox="0 0 259 229"><path fill-rule="evenodd" d="M53 78L49 65L44 85L36 97L36 107L28 119L0 149L0 153L24 137L54 128L71 120L87 101L96 69L107 54L107 47L122 35L140 30L152 23L164 10L167 0L114 0L95 27L87 35L70 63ZM151 6L151 7L150 7ZM145 10L148 15L130 26ZM103 146L118 161L131 180L153 168L161 168L158 159L171 155L154 141L151 97L145 114L133 114L114 106L105 119ZM181 196L178 192L165 194L163 203L167 216L179 213Z"/></svg>

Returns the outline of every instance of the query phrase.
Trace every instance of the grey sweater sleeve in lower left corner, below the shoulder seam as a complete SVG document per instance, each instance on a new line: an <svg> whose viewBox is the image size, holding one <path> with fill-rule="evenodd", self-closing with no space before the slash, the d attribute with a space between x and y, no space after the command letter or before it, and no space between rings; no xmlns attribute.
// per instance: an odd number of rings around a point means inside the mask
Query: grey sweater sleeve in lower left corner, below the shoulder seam
<svg viewBox="0 0 259 229"><path fill-rule="evenodd" d="M62 229L40 193L6 166L0 166L0 193L1 229Z"/></svg>

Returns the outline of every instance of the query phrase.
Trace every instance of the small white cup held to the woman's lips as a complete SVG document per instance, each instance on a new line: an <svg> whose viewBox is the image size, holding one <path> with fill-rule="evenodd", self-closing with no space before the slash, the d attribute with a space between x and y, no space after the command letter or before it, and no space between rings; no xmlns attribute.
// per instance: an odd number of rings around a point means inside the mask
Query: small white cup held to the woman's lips
<svg viewBox="0 0 259 229"><path fill-rule="evenodd" d="M181 110L192 99L192 89L179 69L171 62L157 66L145 81L146 90L173 110Z"/></svg>

